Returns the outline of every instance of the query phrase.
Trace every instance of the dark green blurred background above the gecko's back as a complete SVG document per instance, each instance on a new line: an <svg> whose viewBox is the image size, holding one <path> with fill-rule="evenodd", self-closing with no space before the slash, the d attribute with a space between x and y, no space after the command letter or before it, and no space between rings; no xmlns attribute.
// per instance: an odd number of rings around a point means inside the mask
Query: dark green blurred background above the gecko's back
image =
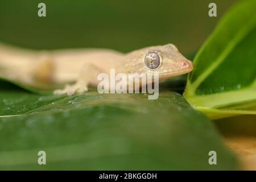
<svg viewBox="0 0 256 182"><path fill-rule="evenodd" d="M38 17L38 3L46 17ZM174 43L195 55L235 0L0 1L0 41L35 49L104 47L129 52Z"/></svg>

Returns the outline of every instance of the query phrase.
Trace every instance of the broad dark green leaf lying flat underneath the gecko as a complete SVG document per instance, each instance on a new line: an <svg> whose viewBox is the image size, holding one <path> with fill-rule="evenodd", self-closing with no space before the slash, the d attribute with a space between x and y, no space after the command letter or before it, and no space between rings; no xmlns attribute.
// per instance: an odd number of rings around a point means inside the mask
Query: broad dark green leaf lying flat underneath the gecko
<svg viewBox="0 0 256 182"><path fill-rule="evenodd" d="M209 119L175 92L0 96L0 169L238 169Z"/></svg>

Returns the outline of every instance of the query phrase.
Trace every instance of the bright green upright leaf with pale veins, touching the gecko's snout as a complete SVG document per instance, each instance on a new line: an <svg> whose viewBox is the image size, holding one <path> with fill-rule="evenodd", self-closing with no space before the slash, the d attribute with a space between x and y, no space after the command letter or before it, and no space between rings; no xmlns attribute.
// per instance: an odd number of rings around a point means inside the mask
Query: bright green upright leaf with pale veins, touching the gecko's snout
<svg viewBox="0 0 256 182"><path fill-rule="evenodd" d="M256 114L256 1L222 18L194 60L184 96L211 118Z"/></svg>

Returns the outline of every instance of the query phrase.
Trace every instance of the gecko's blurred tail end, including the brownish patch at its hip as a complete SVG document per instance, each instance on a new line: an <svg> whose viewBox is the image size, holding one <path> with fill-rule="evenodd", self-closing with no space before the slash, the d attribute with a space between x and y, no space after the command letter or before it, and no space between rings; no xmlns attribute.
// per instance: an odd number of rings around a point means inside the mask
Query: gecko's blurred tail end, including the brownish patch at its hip
<svg viewBox="0 0 256 182"><path fill-rule="evenodd" d="M0 77L25 84L53 82L55 67L48 51L34 51L0 42Z"/></svg>

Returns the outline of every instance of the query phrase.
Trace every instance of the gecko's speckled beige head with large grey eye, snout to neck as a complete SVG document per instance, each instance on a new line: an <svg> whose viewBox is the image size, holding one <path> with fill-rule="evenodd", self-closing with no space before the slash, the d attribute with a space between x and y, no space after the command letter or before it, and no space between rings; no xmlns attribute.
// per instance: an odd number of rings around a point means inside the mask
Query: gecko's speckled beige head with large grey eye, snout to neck
<svg viewBox="0 0 256 182"><path fill-rule="evenodd" d="M131 52L126 64L130 72L158 73L160 80L191 72L193 64L173 44ZM132 64L131 64L132 63Z"/></svg>

